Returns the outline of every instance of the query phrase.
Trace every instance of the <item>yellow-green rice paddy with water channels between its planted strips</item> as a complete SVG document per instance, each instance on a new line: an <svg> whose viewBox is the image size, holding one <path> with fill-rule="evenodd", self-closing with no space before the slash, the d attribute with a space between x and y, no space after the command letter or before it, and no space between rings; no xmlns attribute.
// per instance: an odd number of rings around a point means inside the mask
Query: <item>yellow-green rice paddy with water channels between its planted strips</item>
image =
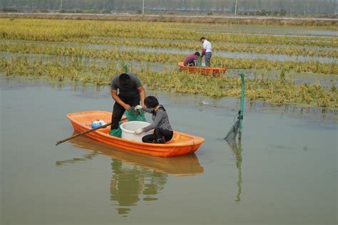
<svg viewBox="0 0 338 225"><path fill-rule="evenodd" d="M201 50L201 36L212 42L212 66L228 68L224 75L178 70ZM108 85L126 63L150 90L219 98L240 94L242 71L252 101L338 107L334 26L1 19L0 52L6 76Z"/></svg>

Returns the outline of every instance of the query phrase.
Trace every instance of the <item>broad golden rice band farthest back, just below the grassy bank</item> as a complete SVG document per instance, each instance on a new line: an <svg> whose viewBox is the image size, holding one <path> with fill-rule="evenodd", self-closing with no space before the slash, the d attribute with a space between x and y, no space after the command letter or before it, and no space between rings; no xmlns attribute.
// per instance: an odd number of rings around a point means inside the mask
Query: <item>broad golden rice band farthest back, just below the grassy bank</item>
<svg viewBox="0 0 338 225"><path fill-rule="evenodd" d="M0 38L29 41L81 41L95 36L114 38L152 38L198 41L203 30L194 31L184 23L126 21L60 21L0 19ZM182 26L180 26L182 25ZM211 27L212 28L212 27ZM338 47L337 38L312 36L272 36L237 33L210 33L211 41L224 43L283 44L291 46Z"/></svg>

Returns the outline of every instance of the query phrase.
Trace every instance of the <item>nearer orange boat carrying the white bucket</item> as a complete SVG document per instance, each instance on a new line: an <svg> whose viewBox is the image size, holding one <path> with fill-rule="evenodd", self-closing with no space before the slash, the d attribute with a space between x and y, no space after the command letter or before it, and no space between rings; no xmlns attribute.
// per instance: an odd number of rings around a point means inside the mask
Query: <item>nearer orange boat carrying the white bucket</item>
<svg viewBox="0 0 338 225"><path fill-rule="evenodd" d="M90 130L91 122L94 120L103 120L107 123L111 122L111 112L105 111L75 112L68 114L67 117L71 120L74 130L77 132ZM202 137L195 137L183 132L174 131L173 139L170 140L170 142L166 142L165 144L150 144L126 140L120 137L113 137L108 134L109 131L110 127L106 127L89 132L86 135L94 140L119 147L123 150L160 157L187 155L189 153L196 152L200 145L205 141Z"/></svg>

